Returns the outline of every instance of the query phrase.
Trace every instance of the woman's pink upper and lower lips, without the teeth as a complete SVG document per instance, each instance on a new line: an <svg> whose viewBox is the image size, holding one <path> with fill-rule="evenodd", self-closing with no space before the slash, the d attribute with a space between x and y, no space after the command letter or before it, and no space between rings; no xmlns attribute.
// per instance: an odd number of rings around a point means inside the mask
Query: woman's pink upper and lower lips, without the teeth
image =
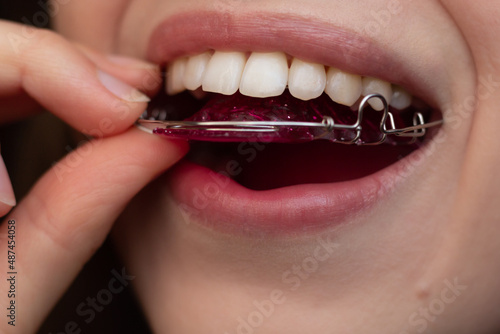
<svg viewBox="0 0 500 334"><path fill-rule="evenodd" d="M208 49L284 51L432 96L425 84L375 42L300 17L215 12L177 15L153 32L148 57L166 64ZM171 171L170 186L185 218L231 234L286 234L345 223L353 215L369 210L401 183L391 181L387 185L387 180L395 179L404 160L353 181L268 191L247 189L209 169L182 162Z"/></svg>

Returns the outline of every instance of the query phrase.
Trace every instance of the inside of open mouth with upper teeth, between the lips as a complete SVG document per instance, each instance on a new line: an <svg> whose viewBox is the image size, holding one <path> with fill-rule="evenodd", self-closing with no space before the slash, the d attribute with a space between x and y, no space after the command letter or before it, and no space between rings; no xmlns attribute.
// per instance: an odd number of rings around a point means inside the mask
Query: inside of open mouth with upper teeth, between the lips
<svg viewBox="0 0 500 334"><path fill-rule="evenodd" d="M166 94L165 94L166 93ZM189 121L304 122L331 117L352 124L364 96L382 95L395 123L409 124L415 113L429 118L432 108L404 88L350 74L322 64L292 58L282 52L208 51L182 57L169 65L166 89L150 104L143 118ZM369 101L360 141L380 140L384 106ZM252 190L269 190L305 183L343 182L373 174L418 149L422 139L390 136L381 146L339 145L356 137L344 130L314 136L311 129L286 129L278 136L243 132L228 136L184 130L156 133L194 139L187 159L224 173L230 163L238 173L225 173Z"/></svg>

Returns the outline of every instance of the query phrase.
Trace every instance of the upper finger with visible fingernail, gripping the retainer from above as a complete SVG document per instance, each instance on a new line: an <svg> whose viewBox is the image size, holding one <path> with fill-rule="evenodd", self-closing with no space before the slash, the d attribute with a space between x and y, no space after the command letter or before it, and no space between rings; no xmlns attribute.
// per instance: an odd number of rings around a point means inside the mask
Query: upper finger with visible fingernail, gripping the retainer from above
<svg viewBox="0 0 500 334"><path fill-rule="evenodd" d="M5 21L0 32L0 97L24 92L75 129L102 136L123 132L144 111L146 95L61 36Z"/></svg>

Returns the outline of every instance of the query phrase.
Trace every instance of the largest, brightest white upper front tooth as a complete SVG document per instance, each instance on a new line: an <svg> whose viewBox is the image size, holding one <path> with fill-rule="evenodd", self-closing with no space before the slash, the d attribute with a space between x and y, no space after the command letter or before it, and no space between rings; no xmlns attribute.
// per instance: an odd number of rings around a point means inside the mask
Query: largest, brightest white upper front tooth
<svg viewBox="0 0 500 334"><path fill-rule="evenodd" d="M283 94L288 82L288 60L283 52L254 52L241 77L240 93L252 97Z"/></svg>

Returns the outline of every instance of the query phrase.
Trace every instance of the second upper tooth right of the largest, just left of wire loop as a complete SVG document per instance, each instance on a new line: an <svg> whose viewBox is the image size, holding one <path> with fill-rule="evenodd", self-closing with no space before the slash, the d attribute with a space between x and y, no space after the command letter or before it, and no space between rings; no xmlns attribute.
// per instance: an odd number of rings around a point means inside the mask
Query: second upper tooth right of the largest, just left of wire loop
<svg viewBox="0 0 500 334"><path fill-rule="evenodd" d="M363 84L361 76L330 67L327 73L325 93L339 104L352 106L361 96Z"/></svg>

